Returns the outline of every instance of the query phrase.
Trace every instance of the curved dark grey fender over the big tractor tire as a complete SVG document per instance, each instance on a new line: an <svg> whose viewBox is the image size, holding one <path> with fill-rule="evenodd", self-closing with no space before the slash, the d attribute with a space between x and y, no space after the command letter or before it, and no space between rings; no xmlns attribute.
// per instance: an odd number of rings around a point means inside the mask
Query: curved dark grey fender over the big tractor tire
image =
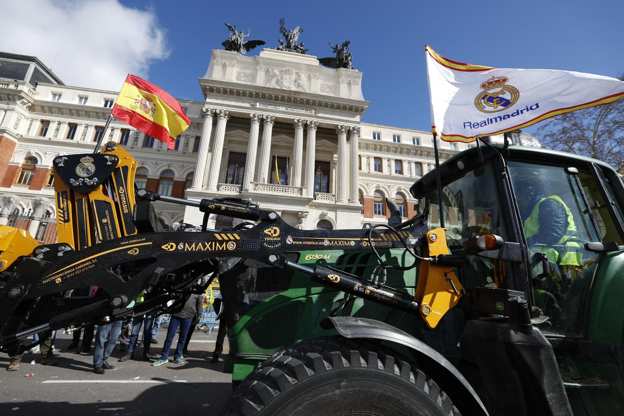
<svg viewBox="0 0 624 416"><path fill-rule="evenodd" d="M442 390L454 392L451 399L462 414L488 415L483 402L459 370L442 354L412 335L384 322L366 318L326 317L321 321L321 327L335 329L345 338L378 339L408 347L422 369L429 376L436 377Z"/></svg>

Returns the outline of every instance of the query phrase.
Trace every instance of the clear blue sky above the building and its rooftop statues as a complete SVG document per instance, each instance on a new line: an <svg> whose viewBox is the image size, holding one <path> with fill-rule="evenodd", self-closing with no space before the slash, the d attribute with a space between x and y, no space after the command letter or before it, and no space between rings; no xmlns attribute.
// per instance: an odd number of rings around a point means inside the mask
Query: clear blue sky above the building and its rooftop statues
<svg viewBox="0 0 624 416"><path fill-rule="evenodd" d="M205 74L210 50L228 37L224 22L250 28L250 39L276 47L280 17L288 28L303 27L300 41L318 57L331 56L329 41L350 39L353 66L364 72L364 98L372 102L363 121L390 126L431 126L425 44L455 61L486 66L624 72L621 0L121 2L158 16L170 54L151 62L149 79L182 99L203 99L197 77ZM130 41L140 30L127 29Z"/></svg>

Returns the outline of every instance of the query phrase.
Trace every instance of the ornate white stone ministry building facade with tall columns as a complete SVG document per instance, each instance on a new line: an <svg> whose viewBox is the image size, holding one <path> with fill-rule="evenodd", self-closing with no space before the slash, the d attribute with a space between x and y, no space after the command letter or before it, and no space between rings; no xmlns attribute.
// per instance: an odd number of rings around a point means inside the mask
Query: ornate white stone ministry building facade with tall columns
<svg viewBox="0 0 624 416"><path fill-rule="evenodd" d="M248 198L303 229L385 222L384 197L409 217L409 187L434 163L431 132L362 122L362 81L314 56L213 50L205 100L178 100L191 124L170 150L119 121L104 131L117 91L67 86L36 57L0 52L0 224L54 241L52 160L92 152L100 136L137 159L139 187L162 194ZM466 146L442 142L441 159ZM165 225L201 224L197 209L155 208ZM213 215L209 225L236 222Z"/></svg>

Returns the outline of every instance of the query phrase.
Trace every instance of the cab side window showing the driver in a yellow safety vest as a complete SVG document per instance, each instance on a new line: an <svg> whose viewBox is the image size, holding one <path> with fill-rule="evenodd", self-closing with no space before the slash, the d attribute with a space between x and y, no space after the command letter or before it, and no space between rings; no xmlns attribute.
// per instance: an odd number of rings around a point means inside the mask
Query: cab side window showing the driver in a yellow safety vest
<svg viewBox="0 0 624 416"><path fill-rule="evenodd" d="M597 254L586 242L613 240L617 231L588 171L509 161L527 239L535 305L545 333L582 336ZM615 233L615 234L614 234Z"/></svg>

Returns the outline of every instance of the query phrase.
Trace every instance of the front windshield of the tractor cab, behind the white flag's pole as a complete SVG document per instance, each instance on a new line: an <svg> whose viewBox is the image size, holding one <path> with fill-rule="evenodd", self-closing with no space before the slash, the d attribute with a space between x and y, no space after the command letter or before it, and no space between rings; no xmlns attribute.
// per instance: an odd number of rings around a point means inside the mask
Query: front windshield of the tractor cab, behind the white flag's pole
<svg viewBox="0 0 624 416"><path fill-rule="evenodd" d="M512 270L507 262L487 259L464 252L464 241L474 235L484 233L500 235L508 241L504 215L494 176L492 162L476 167L463 176L446 184L442 188L444 202L444 227L447 244L451 254L466 257L464 267L457 270L457 275L464 287L510 287ZM419 201L419 206L426 207L429 228L440 226L437 192L432 190Z"/></svg>

